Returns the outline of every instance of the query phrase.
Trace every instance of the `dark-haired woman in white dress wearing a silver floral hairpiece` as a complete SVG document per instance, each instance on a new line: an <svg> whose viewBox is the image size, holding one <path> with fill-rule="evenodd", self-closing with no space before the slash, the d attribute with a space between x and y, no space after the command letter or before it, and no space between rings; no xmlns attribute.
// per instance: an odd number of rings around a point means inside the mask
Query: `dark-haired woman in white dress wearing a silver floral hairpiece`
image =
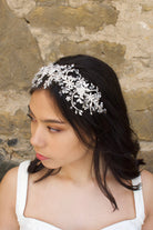
<svg viewBox="0 0 153 230"><path fill-rule="evenodd" d="M65 57L32 81L33 161L0 186L1 230L151 230L153 176L140 172L139 142L114 71Z"/></svg>

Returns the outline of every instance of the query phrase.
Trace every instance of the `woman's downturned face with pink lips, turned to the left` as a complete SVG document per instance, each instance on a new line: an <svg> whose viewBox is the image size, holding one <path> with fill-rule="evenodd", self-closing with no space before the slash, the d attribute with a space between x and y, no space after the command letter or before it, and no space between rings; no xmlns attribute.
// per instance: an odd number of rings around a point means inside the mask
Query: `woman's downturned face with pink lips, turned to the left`
<svg viewBox="0 0 153 230"><path fill-rule="evenodd" d="M57 169L84 161L89 151L62 117L48 90L32 93L29 104L31 144L44 167Z"/></svg>

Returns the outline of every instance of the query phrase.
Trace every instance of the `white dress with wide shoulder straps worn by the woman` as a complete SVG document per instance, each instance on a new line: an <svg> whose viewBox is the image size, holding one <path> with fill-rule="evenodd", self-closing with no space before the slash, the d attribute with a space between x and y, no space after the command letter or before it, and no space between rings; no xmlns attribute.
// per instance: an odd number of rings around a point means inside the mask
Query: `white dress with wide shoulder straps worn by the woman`
<svg viewBox="0 0 153 230"><path fill-rule="evenodd" d="M28 167L30 161L23 161L19 166L18 170L18 184L17 184L17 204L16 213L19 221L20 230L62 230L55 226L49 224L47 222L37 220L34 218L24 217L24 208L27 201L27 190L28 190ZM133 186L141 182L141 177L132 180ZM131 220L124 220L114 224L111 224L101 230L141 230L144 222L144 203L142 189L134 192L135 210L136 217Z"/></svg>

